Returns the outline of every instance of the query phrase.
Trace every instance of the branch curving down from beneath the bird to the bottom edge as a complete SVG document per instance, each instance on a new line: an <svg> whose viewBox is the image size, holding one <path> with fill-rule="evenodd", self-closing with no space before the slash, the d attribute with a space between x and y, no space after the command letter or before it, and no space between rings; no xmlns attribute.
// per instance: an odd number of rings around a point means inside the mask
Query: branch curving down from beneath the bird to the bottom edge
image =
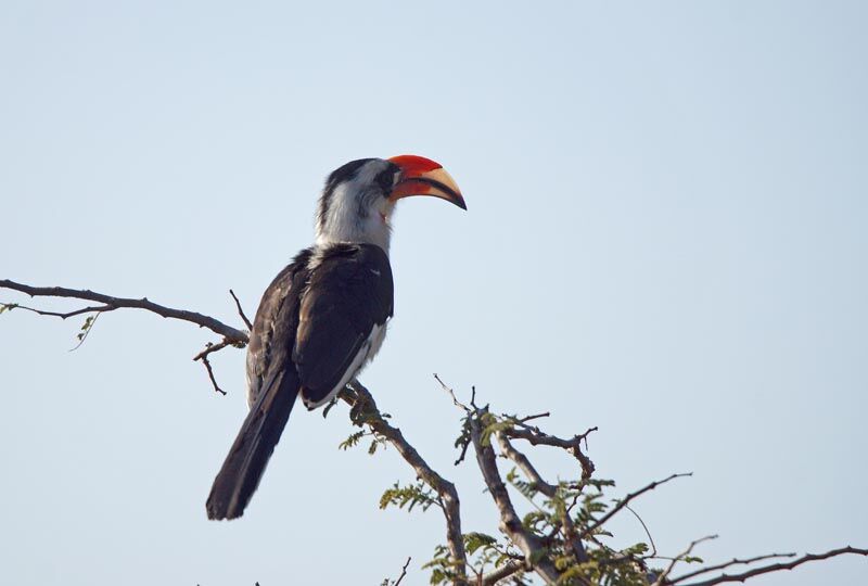
<svg viewBox="0 0 868 586"><path fill-rule="evenodd" d="M458 584L467 584L468 558L461 535L460 501L455 485L437 474L422 459L416 448L404 438L404 434L398 428L392 426L383 419L371 393L358 380L353 379L340 396L352 407L349 415L354 423L368 425L374 433L385 437L416 471L416 475L436 491L443 500L443 512L446 517L446 543L459 576Z"/></svg>

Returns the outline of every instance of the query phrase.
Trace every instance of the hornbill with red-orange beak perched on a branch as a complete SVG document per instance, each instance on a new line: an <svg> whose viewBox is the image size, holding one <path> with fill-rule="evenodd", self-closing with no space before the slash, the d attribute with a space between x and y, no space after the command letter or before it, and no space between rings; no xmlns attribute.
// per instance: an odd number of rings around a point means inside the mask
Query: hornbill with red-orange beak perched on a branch
<svg viewBox="0 0 868 586"><path fill-rule="evenodd" d="M316 241L268 285L247 345L247 413L214 480L209 519L244 513L301 395L329 402L376 354L392 317L390 219L408 195L467 209L448 173L414 155L362 158L326 181Z"/></svg>

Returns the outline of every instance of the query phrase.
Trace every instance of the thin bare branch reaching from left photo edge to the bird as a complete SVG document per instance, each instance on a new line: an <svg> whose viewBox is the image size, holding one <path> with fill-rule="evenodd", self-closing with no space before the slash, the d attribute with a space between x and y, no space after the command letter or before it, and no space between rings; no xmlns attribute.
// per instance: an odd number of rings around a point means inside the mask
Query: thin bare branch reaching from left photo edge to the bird
<svg viewBox="0 0 868 586"><path fill-rule="evenodd" d="M174 309L171 307L158 305L156 303L148 301L146 297L143 297L141 300L132 300L127 297L113 297L111 295L105 295L103 293L95 293L90 290L66 289L63 286L30 286L22 283L16 283L14 281L10 281L8 279L0 279L0 289L11 289L13 291L20 291L22 293L30 295L31 297L68 297L74 300L84 300L84 301L91 301L104 304L101 307L76 309L75 311L71 311L69 314L60 314L56 316L61 318L63 318L64 316L72 317L74 315L89 313L89 311L113 311L114 309L119 309L122 307L137 308L154 313L164 318L179 319L182 321L189 321L191 323L195 323L201 328L207 328L214 333L231 340L233 343L238 344L247 343L247 334L245 332L237 330L231 326L227 326L226 323L210 316L204 316L195 311ZM51 311L41 311L36 309L31 310L36 313L41 313L42 315L54 315L54 313Z"/></svg>

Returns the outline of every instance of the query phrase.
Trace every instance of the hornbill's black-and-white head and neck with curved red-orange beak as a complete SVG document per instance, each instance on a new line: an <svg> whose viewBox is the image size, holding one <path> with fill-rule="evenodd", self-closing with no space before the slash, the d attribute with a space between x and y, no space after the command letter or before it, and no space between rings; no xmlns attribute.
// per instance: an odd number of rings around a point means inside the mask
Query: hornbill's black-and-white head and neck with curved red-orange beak
<svg viewBox="0 0 868 586"><path fill-rule="evenodd" d="M455 180L439 163L416 155L360 158L326 180L317 212L317 244L376 244L388 252L395 203L409 195L432 195L467 209Z"/></svg>

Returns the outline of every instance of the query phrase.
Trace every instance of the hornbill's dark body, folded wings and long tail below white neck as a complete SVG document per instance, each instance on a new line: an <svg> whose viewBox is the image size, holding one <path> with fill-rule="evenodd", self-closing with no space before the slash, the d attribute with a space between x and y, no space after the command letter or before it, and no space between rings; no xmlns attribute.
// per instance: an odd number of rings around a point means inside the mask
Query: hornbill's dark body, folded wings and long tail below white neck
<svg viewBox="0 0 868 586"><path fill-rule="evenodd" d="M304 251L275 278L247 346L251 411L214 481L209 519L244 513L299 391L319 403L340 390L392 300L388 257L369 244Z"/></svg>

